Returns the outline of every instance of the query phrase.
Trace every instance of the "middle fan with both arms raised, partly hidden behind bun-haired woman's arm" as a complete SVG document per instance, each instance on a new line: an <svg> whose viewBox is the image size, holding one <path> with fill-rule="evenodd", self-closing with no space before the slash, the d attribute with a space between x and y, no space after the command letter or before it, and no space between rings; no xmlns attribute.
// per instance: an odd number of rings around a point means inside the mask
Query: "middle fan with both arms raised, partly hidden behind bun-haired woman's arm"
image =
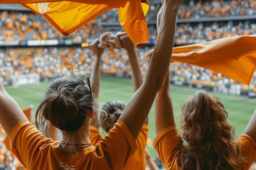
<svg viewBox="0 0 256 170"><path fill-rule="evenodd" d="M132 69L132 82L134 87L134 92L136 92L139 87L143 83L143 77L140 71L139 63L137 60L137 55L135 51L135 46L130 40L130 38L126 35L126 33L119 34L119 39L122 44L122 47L127 50L128 58L130 61L131 69ZM94 63L93 63L93 69L92 69L92 75L91 80L92 82L92 93L94 94L94 98L96 101L98 101L99 96L99 87L100 87L100 56L102 54L102 49L98 48L98 40L94 41L90 47L94 54L96 55ZM110 100L104 104L102 107L102 110L106 113L106 119L102 123L103 124L103 130L108 133L110 129L114 126L115 123L117 123L117 120L122 115L122 111L125 109L126 103L124 103L121 100ZM135 154L130 158L130 160L127 162L125 166L125 170L130 169L136 169L136 170L145 170L146 168L146 159L145 159L145 148L147 145L147 133L148 133L148 117L143 124L143 127L141 129L141 132L139 133L139 136L136 140L136 144L138 146L138 151L135 152ZM100 135L100 132L95 125L90 126L90 141L93 146L96 146L100 141L102 140L102 137Z"/></svg>

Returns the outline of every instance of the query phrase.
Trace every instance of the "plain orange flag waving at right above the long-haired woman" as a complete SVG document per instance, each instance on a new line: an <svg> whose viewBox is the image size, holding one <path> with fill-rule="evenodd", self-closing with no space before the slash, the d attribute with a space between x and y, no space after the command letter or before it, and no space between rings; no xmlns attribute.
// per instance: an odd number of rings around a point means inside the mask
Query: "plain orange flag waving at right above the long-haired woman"
<svg viewBox="0 0 256 170"><path fill-rule="evenodd" d="M148 57L152 52L147 54ZM249 85L256 66L256 35L175 47L172 54L174 61L203 67Z"/></svg>

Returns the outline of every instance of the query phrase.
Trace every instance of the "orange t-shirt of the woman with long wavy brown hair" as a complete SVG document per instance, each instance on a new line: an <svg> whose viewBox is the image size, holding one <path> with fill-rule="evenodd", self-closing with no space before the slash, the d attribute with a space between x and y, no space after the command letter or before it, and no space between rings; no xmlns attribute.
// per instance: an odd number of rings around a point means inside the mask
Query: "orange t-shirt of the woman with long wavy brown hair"
<svg viewBox="0 0 256 170"><path fill-rule="evenodd" d="M164 128L155 138L153 146L156 149L165 169L179 170L177 165L177 154L173 149L178 145L181 136L175 125ZM238 165L239 170L248 170L256 159L256 142L248 135L243 134L238 138L241 144L241 153L248 160Z"/></svg>

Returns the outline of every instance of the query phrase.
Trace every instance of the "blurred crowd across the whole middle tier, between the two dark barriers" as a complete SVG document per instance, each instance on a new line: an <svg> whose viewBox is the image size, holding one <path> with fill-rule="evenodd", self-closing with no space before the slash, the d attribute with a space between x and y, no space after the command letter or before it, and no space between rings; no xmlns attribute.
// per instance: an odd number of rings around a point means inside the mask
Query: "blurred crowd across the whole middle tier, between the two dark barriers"
<svg viewBox="0 0 256 170"><path fill-rule="evenodd" d="M122 31L122 27L97 26L96 20L83 26L69 37L64 37L39 15L21 12L0 12L0 41L70 39L74 43L86 42L106 31ZM150 40L156 40L156 26L149 26ZM177 24L176 44L192 44L235 35L255 34L255 22L214 22Z"/></svg>

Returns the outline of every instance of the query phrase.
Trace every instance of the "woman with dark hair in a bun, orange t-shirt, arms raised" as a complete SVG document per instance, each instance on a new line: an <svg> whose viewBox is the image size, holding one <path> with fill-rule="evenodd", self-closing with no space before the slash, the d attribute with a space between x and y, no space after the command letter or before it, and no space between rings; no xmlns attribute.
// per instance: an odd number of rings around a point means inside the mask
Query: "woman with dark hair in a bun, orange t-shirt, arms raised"
<svg viewBox="0 0 256 170"><path fill-rule="evenodd" d="M136 140L167 76L181 3L182 0L164 0L160 34L145 80L117 123L96 146L90 142L89 125L99 116L88 76L71 74L53 80L37 108L37 124L43 126L47 120L60 129L61 142L42 135L0 83L0 124L10 136L11 152L26 169L121 170L125 167L138 149Z"/></svg>

